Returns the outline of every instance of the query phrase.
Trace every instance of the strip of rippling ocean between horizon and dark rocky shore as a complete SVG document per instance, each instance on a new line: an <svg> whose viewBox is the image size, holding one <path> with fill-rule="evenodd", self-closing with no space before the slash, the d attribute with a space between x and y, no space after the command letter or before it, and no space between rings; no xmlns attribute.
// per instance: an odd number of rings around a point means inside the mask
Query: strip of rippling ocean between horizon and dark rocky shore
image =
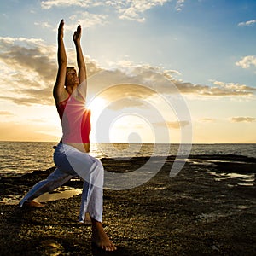
<svg viewBox="0 0 256 256"><path fill-rule="evenodd" d="M0 176L17 177L27 172L55 166L56 143L0 142ZM101 143L90 145L90 154L101 158L131 158L134 156L177 155L179 144ZM256 144L193 144L190 155L235 154L256 158Z"/></svg>

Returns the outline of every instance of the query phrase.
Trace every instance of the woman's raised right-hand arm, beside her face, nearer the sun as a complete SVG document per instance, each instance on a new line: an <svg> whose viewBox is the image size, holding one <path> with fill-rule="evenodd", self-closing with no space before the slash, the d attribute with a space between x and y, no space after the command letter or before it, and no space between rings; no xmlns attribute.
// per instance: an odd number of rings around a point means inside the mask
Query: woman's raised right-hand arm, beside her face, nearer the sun
<svg viewBox="0 0 256 256"><path fill-rule="evenodd" d="M79 67L79 83L85 82L86 84L86 67L84 62L84 55L81 48L80 40L81 40L82 29L79 25L77 30L73 33L73 42L76 46L77 51L77 61Z"/></svg>

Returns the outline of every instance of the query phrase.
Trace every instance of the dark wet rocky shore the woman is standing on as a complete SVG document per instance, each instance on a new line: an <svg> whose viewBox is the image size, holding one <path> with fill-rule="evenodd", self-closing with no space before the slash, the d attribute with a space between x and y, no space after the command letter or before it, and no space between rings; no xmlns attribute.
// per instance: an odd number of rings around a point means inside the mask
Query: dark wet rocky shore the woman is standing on
<svg viewBox="0 0 256 256"><path fill-rule="evenodd" d="M169 177L174 157L133 189L104 190L103 226L113 253L90 243L90 226L78 223L80 195L48 201L44 208L0 205L1 255L256 255L256 159L190 155ZM109 172L143 166L147 157L102 159ZM123 167L123 171L122 171ZM131 168L132 169L132 168ZM54 170L3 177L1 197L20 198ZM73 180L69 187L81 189Z"/></svg>

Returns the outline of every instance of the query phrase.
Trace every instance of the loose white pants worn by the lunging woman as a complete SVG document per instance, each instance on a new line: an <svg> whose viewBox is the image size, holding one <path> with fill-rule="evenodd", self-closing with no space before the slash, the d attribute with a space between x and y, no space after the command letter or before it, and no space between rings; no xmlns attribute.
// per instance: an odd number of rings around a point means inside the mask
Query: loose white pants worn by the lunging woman
<svg viewBox="0 0 256 256"><path fill-rule="evenodd" d="M102 162L64 143L59 143L55 148L54 161L57 166L55 171L28 191L20 201L20 207L25 201L32 201L39 195L53 191L79 175L84 180L79 222L84 222L86 212L89 212L91 218L102 222Z"/></svg>

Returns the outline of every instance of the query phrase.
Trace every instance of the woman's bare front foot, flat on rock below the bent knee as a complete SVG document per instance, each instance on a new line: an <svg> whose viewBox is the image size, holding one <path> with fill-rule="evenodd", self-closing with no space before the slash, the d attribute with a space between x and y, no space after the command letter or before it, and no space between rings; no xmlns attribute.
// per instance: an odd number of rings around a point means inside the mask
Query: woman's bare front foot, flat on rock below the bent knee
<svg viewBox="0 0 256 256"><path fill-rule="evenodd" d="M102 223L91 219L92 221L92 236L91 241L96 244L97 247L102 248L104 251L113 252L117 248L114 246L113 242L109 240L108 235L103 230Z"/></svg>

